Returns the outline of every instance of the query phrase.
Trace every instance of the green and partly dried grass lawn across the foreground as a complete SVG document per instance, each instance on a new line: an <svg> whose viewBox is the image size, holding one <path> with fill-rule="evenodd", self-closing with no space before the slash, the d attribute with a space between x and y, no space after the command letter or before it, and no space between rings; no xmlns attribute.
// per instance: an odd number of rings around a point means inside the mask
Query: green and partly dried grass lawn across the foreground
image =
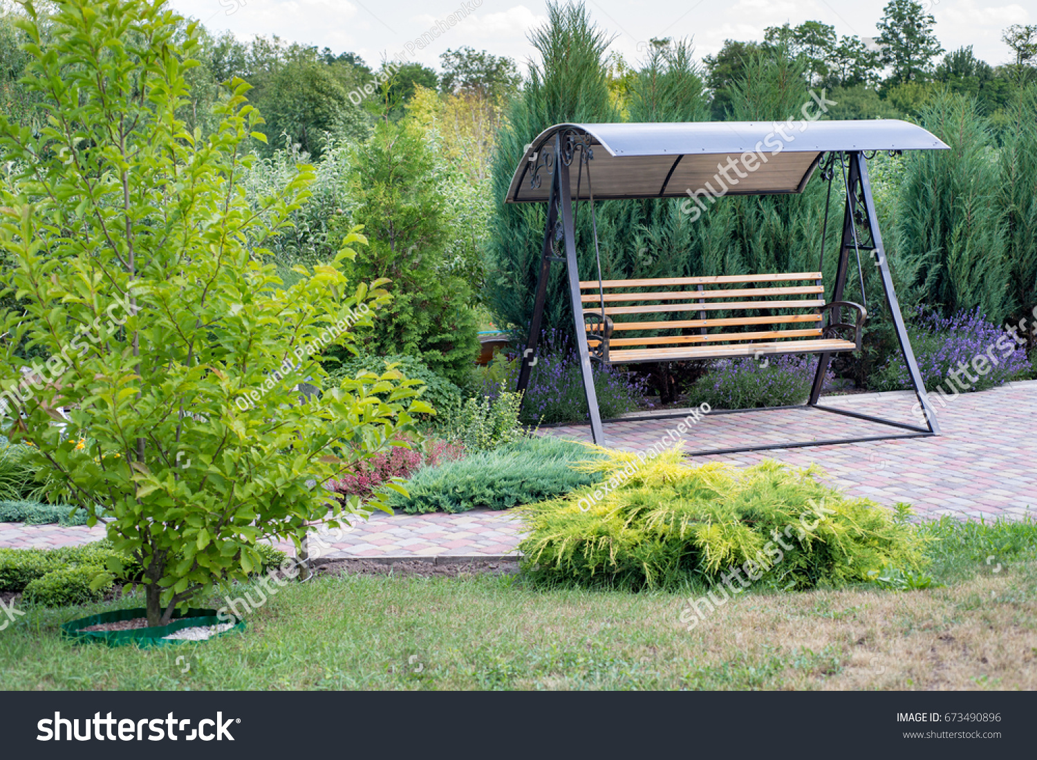
<svg viewBox="0 0 1037 760"><path fill-rule="evenodd" d="M26 609L0 631L0 676L12 689L1037 689L1033 529L934 532L943 588L749 593L692 631L684 594L521 576L318 578L273 596L245 635L155 650L58 636L111 604Z"/></svg>

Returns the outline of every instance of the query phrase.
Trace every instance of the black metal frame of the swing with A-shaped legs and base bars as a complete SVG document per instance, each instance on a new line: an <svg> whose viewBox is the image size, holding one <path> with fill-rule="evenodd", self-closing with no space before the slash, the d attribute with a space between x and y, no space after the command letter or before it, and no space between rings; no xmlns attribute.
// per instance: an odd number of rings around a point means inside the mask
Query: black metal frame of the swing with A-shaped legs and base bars
<svg viewBox="0 0 1037 760"><path fill-rule="evenodd" d="M548 220L543 234L543 248L540 258L540 271L537 276L536 298L533 304L533 318L530 322L529 340L525 356L522 358L518 372L518 382L515 390L525 391L529 385L530 371L536 363L536 346L540 335L540 325L543 316L543 307L546 299L548 278L551 274L551 263L561 261L565 263L569 283L569 299L572 304L572 319L577 335L577 351L580 356L580 369L583 377L584 394L587 397L587 405L590 410L591 435L595 444L605 443L605 429L602 427L600 412L597 407L597 396L594 391L594 381L591 370L591 357L587 343L587 330L585 328L585 313L580 300L580 273L577 269L576 255L576 232L573 227L573 199L572 189L569 178L569 166L573 158L579 152L579 161L583 162L590 157L587 156L587 141L589 137L579 136L573 130L566 130L555 135L555 150L551 157L546 151L542 157L542 164L533 158L536 166L532 167L532 180L539 185L540 169L545 169L551 175L551 191L548 200ZM843 214L842 241L839 248L839 261L836 268L836 279L833 286L832 300L828 302L822 311L829 312L825 322L825 331L839 329L851 329L854 331L854 343L858 348L861 346L861 330L866 311L863 307L843 299L843 291L846 285L846 277L849 273L849 257L853 252L860 261L862 250L870 251L874 258L874 263L878 268L882 281L882 291L886 295L886 303L893 317L894 331L900 350L903 354L904 362L910 376L912 387L918 398L919 404L925 418L925 427L910 425L895 420L887 420L880 417L873 417L858 412L838 410L831 406L822 406L818 403L821 389L824 384L824 375L828 372L832 360L832 353L822 353L818 357L817 371L811 386L810 399L806 404L796 406L770 406L755 410L719 410L711 414L739 414L748 412L762 412L767 410L801 409L817 410L831 414L853 417L857 419L875 422L907 430L897 434L867 435L848 439L836 439L824 441L811 441L802 443L772 444L766 446L747 446L737 449L716 449L710 451L691 452L690 456L705 456L711 454L736 454L751 451L765 451L770 449L792 449L811 446L832 446L836 444L853 444L866 441L886 441L892 439L926 438L940 434L940 425L936 422L935 413L929 403L929 398L922 383L922 375L912 349L910 339L907 336L907 329L904 326L903 315L900 313L900 304L897 300L896 290L893 287L893 277L890 273L889 263L886 260L886 249L882 245L881 232L878 229L878 215L875 210L875 202L871 195L871 182L868 177L867 158L861 150L844 151L846 163L848 163L846 173L846 204ZM842 157L840 157L842 158ZM818 162L815 162L815 166ZM831 180L830 180L831 181ZM562 244L564 255L556 253L556 244ZM863 284L863 277L862 277ZM862 294L863 295L863 294ZM842 321L842 310L853 308L858 311L856 323L850 325ZM588 315L589 316L589 315ZM608 325L602 323L597 331L611 332ZM597 337L592 334L591 337ZM600 340L600 339L599 339ZM602 356L598 357L608 361L608 343L601 341L604 345ZM658 420L676 417L685 417L686 413L674 415L643 415L624 417L624 422L638 420Z"/></svg>

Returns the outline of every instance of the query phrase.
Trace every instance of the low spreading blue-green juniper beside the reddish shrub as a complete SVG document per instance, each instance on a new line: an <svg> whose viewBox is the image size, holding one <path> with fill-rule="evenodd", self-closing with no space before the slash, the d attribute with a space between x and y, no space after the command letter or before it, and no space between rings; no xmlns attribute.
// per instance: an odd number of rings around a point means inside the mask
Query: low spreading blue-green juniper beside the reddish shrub
<svg viewBox="0 0 1037 760"><path fill-rule="evenodd" d="M404 486L410 496L394 492L390 505L415 514L532 504L597 482L595 473L573 469L596 457L586 446L553 435L524 438L420 471Z"/></svg>

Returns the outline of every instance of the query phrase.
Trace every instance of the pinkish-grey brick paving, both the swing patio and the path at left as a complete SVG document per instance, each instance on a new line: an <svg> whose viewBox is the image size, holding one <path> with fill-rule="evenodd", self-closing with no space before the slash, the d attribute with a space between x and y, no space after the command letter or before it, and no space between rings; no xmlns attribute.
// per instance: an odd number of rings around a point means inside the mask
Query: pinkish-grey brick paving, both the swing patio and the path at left
<svg viewBox="0 0 1037 760"><path fill-rule="evenodd" d="M830 406L914 422L909 393L874 393L822 399ZM672 412L671 412L672 414ZM925 517L1037 517L1037 382L1013 383L962 394L943 409L937 438L874 441L839 446L776 449L752 454L695 457L746 466L775 458L796 467L819 465L829 482L881 504L909 502ZM647 449L679 419L618 421L606 425L610 446ZM689 451L879 434L890 428L810 410L706 416L684 434ZM545 428L544 434L590 440L585 425ZM311 555L339 558L417 558L513 555L521 524L509 512L394 516L375 512L351 529L321 529ZM103 538L104 528L0 523L0 546L44 548ZM323 541L325 545L319 545ZM281 544L290 551L290 544Z"/></svg>

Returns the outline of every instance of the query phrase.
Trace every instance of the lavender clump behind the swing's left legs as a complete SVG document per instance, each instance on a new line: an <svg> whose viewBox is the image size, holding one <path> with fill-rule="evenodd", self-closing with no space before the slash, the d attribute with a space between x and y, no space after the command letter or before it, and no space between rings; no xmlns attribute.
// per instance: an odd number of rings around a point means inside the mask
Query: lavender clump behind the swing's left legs
<svg viewBox="0 0 1037 760"><path fill-rule="evenodd" d="M537 362L530 374L529 388L523 401L522 421L527 424L553 424L556 422L586 422L589 419L583 378L576 351L568 337L560 332L545 333L537 351ZM495 360L501 361L501 360ZM602 419L610 419L636 412L644 398L647 381L614 367L592 363L594 390ZM501 376L487 377L481 389L491 398L500 392ZM503 373L504 388L513 389L518 378L518 361L508 362Z"/></svg>

